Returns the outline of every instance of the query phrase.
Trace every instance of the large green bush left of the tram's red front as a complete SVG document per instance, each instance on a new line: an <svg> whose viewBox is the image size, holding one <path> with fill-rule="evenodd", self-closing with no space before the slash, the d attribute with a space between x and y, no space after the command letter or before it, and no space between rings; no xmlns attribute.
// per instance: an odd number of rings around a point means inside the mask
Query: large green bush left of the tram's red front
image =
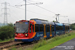
<svg viewBox="0 0 75 50"><path fill-rule="evenodd" d="M7 25L0 27L0 39L9 39L14 37L14 26Z"/></svg>

